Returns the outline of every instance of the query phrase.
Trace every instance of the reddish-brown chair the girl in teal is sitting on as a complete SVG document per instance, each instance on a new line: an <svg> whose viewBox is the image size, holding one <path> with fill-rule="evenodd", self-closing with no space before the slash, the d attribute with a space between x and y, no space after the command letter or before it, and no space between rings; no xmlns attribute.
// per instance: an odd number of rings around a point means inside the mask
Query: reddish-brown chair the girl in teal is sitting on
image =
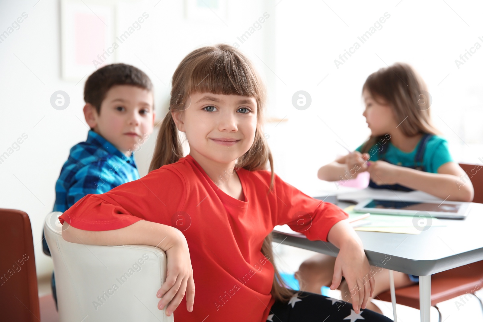
<svg viewBox="0 0 483 322"><path fill-rule="evenodd" d="M461 163L459 166L468 174L469 180L473 184L475 191L473 202L483 203L483 167ZM433 274L431 275L431 306L438 309L437 304L442 301L464 294L472 294L478 299L483 310L482 300L475 295L475 292L482 288L483 261ZM391 292L378 294L376 298L391 302ZM419 285L414 284L396 289L396 302L419 309ZM438 312L441 321L439 309Z"/></svg>

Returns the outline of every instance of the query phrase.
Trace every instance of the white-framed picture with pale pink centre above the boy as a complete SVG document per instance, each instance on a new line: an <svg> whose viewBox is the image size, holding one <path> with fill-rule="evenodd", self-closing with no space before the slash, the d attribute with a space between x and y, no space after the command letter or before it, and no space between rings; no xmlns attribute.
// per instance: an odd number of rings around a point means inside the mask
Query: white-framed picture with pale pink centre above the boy
<svg viewBox="0 0 483 322"><path fill-rule="evenodd" d="M114 4L61 0L60 16L64 80L79 82L99 67L115 62Z"/></svg>

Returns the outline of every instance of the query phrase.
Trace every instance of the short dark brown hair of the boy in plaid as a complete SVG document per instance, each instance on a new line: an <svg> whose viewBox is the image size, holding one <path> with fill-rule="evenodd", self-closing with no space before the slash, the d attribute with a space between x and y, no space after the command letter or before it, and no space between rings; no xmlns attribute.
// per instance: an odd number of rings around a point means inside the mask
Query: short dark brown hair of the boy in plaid
<svg viewBox="0 0 483 322"><path fill-rule="evenodd" d="M153 90L153 84L142 70L127 64L111 64L99 68L85 81L84 101L96 108L100 115L100 105L107 92L115 85L132 85Z"/></svg>

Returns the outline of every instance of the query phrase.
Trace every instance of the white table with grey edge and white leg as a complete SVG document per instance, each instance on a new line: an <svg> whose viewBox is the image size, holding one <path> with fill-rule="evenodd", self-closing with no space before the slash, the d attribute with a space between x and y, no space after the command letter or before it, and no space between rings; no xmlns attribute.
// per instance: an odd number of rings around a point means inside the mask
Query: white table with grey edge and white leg
<svg viewBox="0 0 483 322"><path fill-rule="evenodd" d="M349 203L339 202L341 208ZM421 322L429 322L431 307L431 274L483 260L483 204L472 203L464 220L441 219L444 227L430 227L420 235L357 231L371 265L419 276ZM337 256L339 249L324 241L274 233L274 241Z"/></svg>

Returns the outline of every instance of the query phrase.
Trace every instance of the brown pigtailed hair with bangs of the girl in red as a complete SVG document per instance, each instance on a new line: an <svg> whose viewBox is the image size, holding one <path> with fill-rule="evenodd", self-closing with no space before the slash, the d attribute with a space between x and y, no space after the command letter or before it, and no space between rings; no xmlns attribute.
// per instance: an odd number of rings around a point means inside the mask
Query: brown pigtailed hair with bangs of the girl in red
<svg viewBox="0 0 483 322"><path fill-rule="evenodd" d="M255 140L250 149L238 158L235 168L249 171L266 169L270 163L271 179L269 193L273 188L273 159L262 134L261 121L265 108L265 87L250 60L236 48L217 44L196 49L178 65L172 78L170 111L164 117L156 147L149 167L153 171L177 162L183 157L183 146L171 112L183 112L192 93L213 93L253 97L257 104ZM275 270L271 294L280 301L288 301L294 294L284 285L275 266L271 234L265 238L261 252L270 260Z"/></svg>

